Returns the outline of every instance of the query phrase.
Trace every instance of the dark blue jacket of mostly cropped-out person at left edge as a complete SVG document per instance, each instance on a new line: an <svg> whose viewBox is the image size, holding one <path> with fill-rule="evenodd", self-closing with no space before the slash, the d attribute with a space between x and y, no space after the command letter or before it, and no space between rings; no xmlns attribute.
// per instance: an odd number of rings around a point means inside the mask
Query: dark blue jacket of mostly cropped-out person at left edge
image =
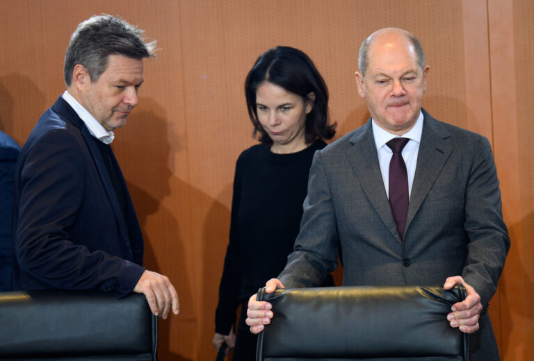
<svg viewBox="0 0 534 361"><path fill-rule="evenodd" d="M11 289L13 178L20 146L0 131L0 292Z"/></svg>

